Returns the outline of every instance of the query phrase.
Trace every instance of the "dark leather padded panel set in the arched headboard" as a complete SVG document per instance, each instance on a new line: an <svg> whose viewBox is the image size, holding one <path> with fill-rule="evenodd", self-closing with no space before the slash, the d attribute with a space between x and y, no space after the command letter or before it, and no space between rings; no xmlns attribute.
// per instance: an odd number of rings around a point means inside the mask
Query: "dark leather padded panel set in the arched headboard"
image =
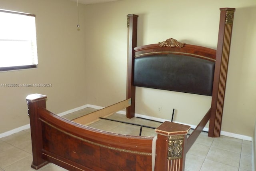
<svg viewBox="0 0 256 171"><path fill-rule="evenodd" d="M215 62L177 54L135 58L134 86L212 95Z"/></svg>

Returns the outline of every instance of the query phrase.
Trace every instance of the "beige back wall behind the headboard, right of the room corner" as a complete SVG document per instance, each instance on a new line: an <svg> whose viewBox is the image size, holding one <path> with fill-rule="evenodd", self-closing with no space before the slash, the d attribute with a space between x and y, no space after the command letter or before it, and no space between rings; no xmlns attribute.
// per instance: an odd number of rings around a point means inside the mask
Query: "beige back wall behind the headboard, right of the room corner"
<svg viewBox="0 0 256 171"><path fill-rule="evenodd" d="M253 135L256 115L255 0L122 0L86 8L88 103L126 97L126 15L138 14L138 46L176 38L216 49L219 8L236 8L222 131ZM137 88L136 113L197 125L210 97ZM160 95L158 95L160 93ZM162 112L158 112L162 107Z"/></svg>

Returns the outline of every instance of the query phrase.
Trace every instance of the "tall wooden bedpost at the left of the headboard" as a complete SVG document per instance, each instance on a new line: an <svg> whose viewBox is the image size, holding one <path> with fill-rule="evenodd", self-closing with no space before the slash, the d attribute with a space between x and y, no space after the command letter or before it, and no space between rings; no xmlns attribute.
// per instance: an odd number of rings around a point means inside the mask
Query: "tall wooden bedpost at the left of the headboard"
<svg viewBox="0 0 256 171"><path fill-rule="evenodd" d="M130 107L126 108L126 117L132 118L135 113L135 86L133 85L133 66L134 66L134 48L137 46L137 21L138 16L135 14L127 15L128 27L128 52L127 52L127 82L126 82L126 99L131 98ZM129 84L130 83L130 84Z"/></svg>

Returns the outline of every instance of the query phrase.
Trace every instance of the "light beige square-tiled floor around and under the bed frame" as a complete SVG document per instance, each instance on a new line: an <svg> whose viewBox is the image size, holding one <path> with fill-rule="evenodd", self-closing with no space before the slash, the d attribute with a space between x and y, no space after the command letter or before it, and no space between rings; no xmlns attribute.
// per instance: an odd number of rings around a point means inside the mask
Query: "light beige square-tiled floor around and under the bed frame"
<svg viewBox="0 0 256 171"><path fill-rule="evenodd" d="M87 109L88 112L93 109ZM83 115L78 111L66 118L72 119ZM152 123L138 118L127 119L123 115L112 115L112 119L123 119L142 125L157 127L160 123ZM100 120L90 126L107 131L138 135L140 127L113 121ZM129 127L129 129L127 129ZM127 132L129 130L129 132ZM142 135L154 136L154 129L143 128ZM0 139L0 171L34 171L32 163L32 147L30 130L20 131ZM52 163L39 171L66 171ZM194 145L186 154L185 171L252 171L252 145L250 141L221 136L211 138L202 132Z"/></svg>

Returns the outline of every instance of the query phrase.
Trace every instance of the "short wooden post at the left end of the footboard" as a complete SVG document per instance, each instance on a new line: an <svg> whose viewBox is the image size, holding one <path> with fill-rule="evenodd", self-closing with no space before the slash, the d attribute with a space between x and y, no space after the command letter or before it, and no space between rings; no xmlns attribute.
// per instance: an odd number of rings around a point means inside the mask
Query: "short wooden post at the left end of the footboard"
<svg viewBox="0 0 256 171"><path fill-rule="evenodd" d="M39 169L48 164L42 159L42 127L39 120L38 107L46 108L46 95L31 94L26 97L28 103L28 116L30 118L30 130L32 141L33 162L31 167Z"/></svg>

